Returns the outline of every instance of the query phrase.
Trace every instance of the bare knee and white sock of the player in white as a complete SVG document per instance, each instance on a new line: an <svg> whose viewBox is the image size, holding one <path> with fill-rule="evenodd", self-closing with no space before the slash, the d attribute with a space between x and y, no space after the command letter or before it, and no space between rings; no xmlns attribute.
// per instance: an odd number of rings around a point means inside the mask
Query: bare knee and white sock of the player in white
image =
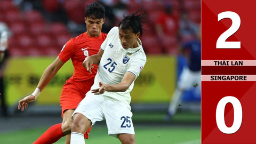
<svg viewBox="0 0 256 144"><path fill-rule="evenodd" d="M84 133L91 126L91 121L83 114L76 113L73 116L73 124L71 125L71 141L70 144L85 143Z"/></svg>

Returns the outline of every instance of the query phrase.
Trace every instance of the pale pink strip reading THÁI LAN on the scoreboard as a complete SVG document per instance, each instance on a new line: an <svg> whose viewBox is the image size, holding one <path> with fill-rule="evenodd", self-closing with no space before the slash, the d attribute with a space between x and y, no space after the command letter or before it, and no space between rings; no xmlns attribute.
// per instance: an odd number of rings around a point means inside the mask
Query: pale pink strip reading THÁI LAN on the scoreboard
<svg viewBox="0 0 256 144"><path fill-rule="evenodd" d="M256 60L202 60L202 66L256 66Z"/></svg>

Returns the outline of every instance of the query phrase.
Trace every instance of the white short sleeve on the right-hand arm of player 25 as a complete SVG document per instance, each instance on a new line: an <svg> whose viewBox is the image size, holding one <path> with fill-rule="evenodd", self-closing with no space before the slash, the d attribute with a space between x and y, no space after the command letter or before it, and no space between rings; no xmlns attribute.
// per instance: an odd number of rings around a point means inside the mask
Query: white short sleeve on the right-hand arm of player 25
<svg viewBox="0 0 256 144"><path fill-rule="evenodd" d="M146 63L146 58L137 58L130 61L130 67L126 72L132 73L136 78L140 75L140 71L143 69Z"/></svg>

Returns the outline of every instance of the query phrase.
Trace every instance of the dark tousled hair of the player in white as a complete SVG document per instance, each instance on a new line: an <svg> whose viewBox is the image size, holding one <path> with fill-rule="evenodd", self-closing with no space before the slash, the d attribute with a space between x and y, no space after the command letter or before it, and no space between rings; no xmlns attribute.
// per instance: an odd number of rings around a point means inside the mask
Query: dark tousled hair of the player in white
<svg viewBox="0 0 256 144"><path fill-rule="evenodd" d="M142 23L147 22L148 14L143 10L138 10L130 15L123 16L124 19L119 23L119 28L127 33L130 30L132 33L137 34L140 32L142 36Z"/></svg>

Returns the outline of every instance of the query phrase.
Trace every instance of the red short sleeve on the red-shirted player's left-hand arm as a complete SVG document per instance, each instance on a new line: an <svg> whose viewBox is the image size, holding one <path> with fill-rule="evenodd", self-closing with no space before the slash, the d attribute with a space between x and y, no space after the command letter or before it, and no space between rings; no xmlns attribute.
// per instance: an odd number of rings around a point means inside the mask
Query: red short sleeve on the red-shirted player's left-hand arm
<svg viewBox="0 0 256 144"><path fill-rule="evenodd" d="M65 45L63 45L60 51L59 58L64 63L68 61L74 54L75 47L74 47L74 42L72 40L73 38L71 38Z"/></svg>

